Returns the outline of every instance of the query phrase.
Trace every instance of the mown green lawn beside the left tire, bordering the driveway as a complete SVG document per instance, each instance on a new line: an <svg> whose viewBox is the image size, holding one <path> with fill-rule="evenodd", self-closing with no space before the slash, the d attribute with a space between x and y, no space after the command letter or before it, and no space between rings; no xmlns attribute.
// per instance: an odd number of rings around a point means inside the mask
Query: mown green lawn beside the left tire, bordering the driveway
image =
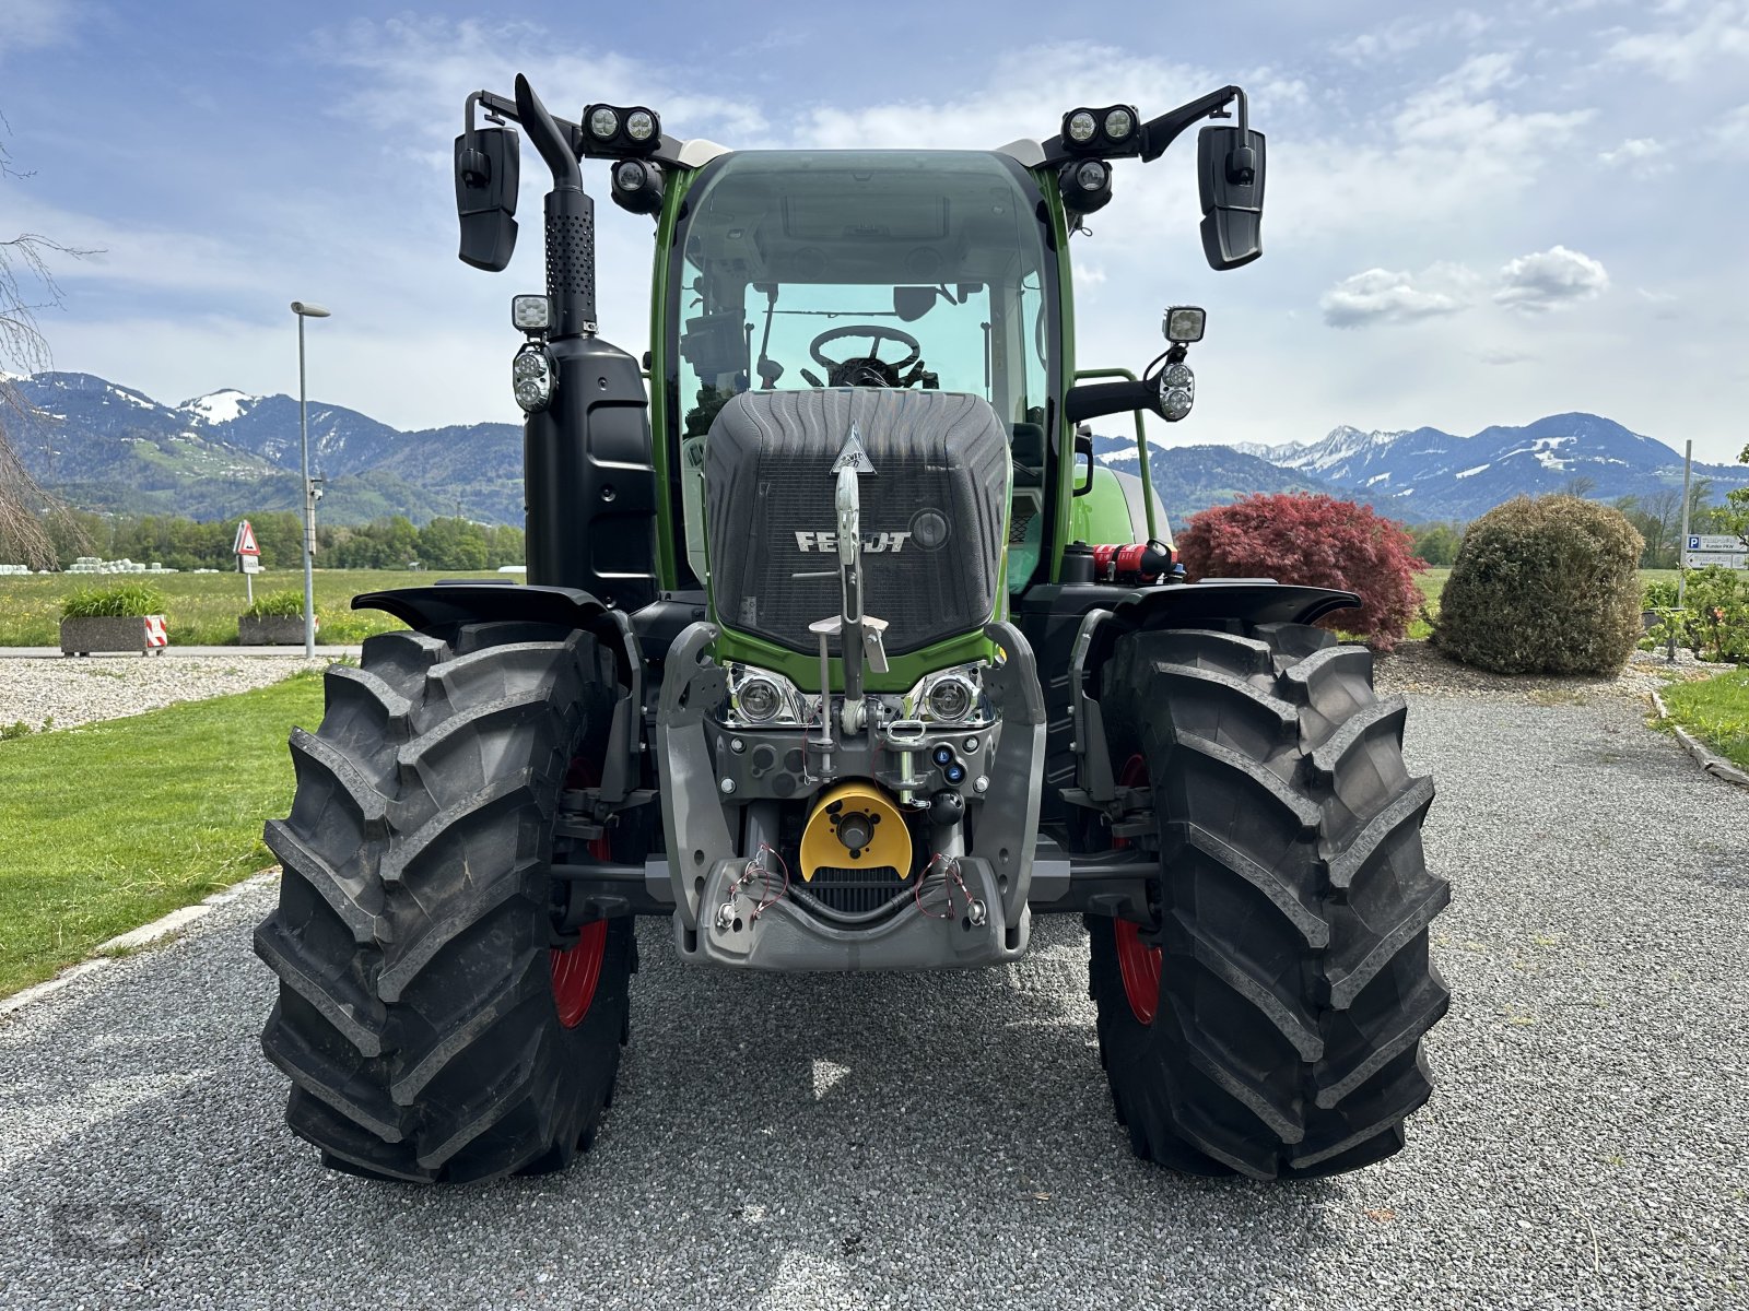
<svg viewBox="0 0 1749 1311"><path fill-rule="evenodd" d="M0 996L273 864L322 680L0 741Z"/></svg>

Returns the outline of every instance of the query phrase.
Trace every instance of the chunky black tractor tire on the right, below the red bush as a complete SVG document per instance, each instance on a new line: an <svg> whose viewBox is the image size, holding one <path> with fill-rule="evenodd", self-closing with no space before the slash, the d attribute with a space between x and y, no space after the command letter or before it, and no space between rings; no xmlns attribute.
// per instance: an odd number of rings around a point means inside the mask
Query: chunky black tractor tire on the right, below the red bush
<svg viewBox="0 0 1749 1311"><path fill-rule="evenodd" d="M1102 669L1118 781L1153 797L1135 844L1163 874L1153 926L1088 916L1100 1058L1137 1155L1334 1175L1399 1150L1432 1091L1432 780L1410 776L1406 708L1373 694L1368 650L1231 628L1126 635Z"/></svg>

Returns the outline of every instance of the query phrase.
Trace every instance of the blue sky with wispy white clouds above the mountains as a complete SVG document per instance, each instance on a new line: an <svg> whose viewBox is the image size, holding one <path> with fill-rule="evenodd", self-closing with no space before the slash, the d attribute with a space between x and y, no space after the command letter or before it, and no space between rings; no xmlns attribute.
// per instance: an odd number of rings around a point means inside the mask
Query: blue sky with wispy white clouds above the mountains
<svg viewBox="0 0 1749 1311"><path fill-rule="evenodd" d="M1196 411L1156 440L1592 411L1697 460L1749 442L1749 0L500 10L0 0L0 239L98 252L52 259L54 367L170 404L296 393L304 299L334 311L313 397L402 428L518 420L507 302L540 290L544 170L525 149L497 276L455 259L449 175L463 98L518 72L565 117L645 103L731 147L992 149L1238 82L1268 136L1261 260L1205 266L1191 133L1119 163L1072 245L1084 367L1139 369L1163 306L1209 309ZM652 227L605 164L584 180L602 334L640 353Z"/></svg>

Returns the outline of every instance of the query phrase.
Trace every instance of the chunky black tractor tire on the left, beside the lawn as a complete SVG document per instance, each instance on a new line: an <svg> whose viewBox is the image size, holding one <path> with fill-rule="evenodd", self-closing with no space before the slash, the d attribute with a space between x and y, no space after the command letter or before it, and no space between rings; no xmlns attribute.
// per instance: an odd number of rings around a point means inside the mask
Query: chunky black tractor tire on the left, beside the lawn
<svg viewBox="0 0 1749 1311"><path fill-rule="evenodd" d="M280 904L255 930L280 977L262 1049L324 1164L458 1183L593 1141L635 942L630 919L582 930L565 960L593 989L568 986L561 1023L549 864L612 703L610 654L535 624L385 633L327 671L320 729L292 731L292 813L266 827Z"/></svg>

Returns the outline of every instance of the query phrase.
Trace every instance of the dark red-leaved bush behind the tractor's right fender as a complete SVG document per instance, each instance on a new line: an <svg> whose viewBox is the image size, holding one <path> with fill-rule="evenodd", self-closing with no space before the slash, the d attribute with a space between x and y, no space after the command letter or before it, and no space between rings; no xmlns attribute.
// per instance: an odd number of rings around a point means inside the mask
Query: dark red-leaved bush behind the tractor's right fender
<svg viewBox="0 0 1749 1311"><path fill-rule="evenodd" d="M1334 496L1240 496L1193 514L1175 545L1193 582L1275 579L1355 593L1361 608L1322 626L1359 633L1373 650L1390 650L1422 601L1415 575L1427 563L1403 524Z"/></svg>

